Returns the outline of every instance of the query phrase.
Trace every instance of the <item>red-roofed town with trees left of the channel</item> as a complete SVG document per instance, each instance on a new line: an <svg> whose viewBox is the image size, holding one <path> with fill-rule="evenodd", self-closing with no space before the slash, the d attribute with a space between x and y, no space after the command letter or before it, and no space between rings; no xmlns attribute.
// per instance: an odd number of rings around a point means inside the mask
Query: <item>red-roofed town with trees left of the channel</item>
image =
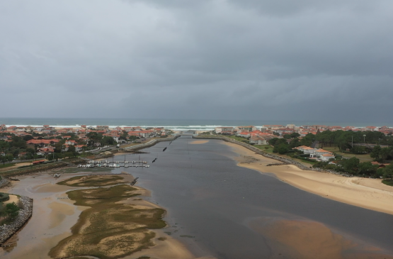
<svg viewBox="0 0 393 259"><path fill-rule="evenodd" d="M136 145L152 138L166 138L166 128L95 126L59 128L55 126L0 125L0 161L35 158L65 158L108 145ZM123 145L123 146L124 146Z"/></svg>

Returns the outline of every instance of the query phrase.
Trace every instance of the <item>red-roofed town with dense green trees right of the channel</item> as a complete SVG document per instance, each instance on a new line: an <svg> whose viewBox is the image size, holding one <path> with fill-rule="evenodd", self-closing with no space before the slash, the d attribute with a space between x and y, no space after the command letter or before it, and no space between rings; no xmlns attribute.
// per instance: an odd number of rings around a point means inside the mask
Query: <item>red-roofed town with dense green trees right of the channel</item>
<svg viewBox="0 0 393 259"><path fill-rule="evenodd" d="M294 124L217 127L210 134L253 145L317 170L386 178L392 185L393 128L387 126L295 126ZM205 133L203 133L205 134Z"/></svg>

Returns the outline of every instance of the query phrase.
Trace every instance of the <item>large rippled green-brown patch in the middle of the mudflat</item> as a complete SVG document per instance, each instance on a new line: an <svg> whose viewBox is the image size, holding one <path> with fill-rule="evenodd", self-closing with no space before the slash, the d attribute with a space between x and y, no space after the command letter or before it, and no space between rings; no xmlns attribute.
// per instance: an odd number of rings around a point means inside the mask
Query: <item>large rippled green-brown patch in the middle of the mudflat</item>
<svg viewBox="0 0 393 259"><path fill-rule="evenodd" d="M50 250L52 258L95 256L121 258L154 246L155 233L149 229L166 226L164 209L135 209L132 204L118 204L139 195L135 187L122 184L108 188L79 189L67 192L75 205L90 206L64 238Z"/></svg>

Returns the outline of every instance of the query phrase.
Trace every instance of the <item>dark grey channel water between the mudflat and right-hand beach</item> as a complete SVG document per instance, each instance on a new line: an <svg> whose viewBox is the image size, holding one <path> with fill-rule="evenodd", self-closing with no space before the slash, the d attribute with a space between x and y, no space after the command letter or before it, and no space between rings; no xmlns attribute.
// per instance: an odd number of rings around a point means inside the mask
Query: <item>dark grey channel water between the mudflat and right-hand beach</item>
<svg viewBox="0 0 393 259"><path fill-rule="evenodd" d="M280 258L284 246L251 227L271 219L321 223L355 242L357 248L366 244L393 255L392 215L325 199L272 175L238 167L233 159L236 153L220 140L199 145L190 144L192 141L190 136L181 136L171 145L158 143L141 156L149 168L115 171L127 170L139 177L139 186L152 190L151 201L169 211L168 231L196 255ZM154 158L158 159L152 163ZM136 159L127 155L127 160ZM301 258L295 251L290 253Z"/></svg>

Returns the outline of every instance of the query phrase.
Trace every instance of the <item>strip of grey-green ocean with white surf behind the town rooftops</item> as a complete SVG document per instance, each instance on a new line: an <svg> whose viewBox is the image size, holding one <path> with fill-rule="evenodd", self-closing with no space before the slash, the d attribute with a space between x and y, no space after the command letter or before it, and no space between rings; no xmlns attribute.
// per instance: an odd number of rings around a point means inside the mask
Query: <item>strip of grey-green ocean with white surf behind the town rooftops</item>
<svg viewBox="0 0 393 259"><path fill-rule="evenodd" d="M387 122L370 123L363 122L345 122L345 121L261 121L261 120L210 120L210 119L82 119L82 118L0 118L0 124L6 126L42 126L50 125L56 127L71 128L81 125L86 126L141 126L144 127L165 127L174 131L210 131L219 126L246 126L253 125L261 127L263 125L283 125L295 124L302 125L329 125L329 126L389 126Z"/></svg>

